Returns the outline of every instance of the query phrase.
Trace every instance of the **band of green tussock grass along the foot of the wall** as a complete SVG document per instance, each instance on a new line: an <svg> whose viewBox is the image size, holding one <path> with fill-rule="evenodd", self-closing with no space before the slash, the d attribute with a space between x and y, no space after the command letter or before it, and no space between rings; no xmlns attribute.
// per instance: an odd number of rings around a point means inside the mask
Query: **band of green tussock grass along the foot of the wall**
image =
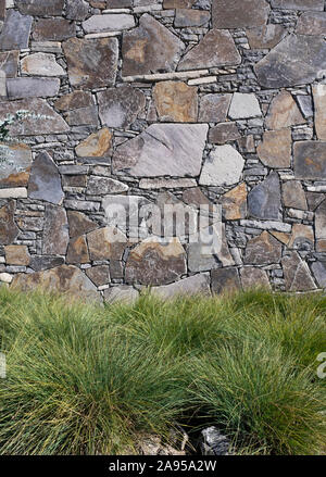
<svg viewBox="0 0 326 477"><path fill-rule="evenodd" d="M129 305L0 289L0 454L136 452L214 424L235 452L322 453L326 298L249 291Z"/></svg>

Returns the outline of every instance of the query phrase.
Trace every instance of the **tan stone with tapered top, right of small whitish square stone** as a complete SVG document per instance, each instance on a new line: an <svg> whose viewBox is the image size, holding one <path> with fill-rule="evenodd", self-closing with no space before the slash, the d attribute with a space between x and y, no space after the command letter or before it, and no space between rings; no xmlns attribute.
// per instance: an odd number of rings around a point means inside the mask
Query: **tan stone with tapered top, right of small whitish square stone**
<svg viewBox="0 0 326 477"><path fill-rule="evenodd" d="M289 91L280 91L269 105L266 128L276 130L304 123L292 95Z"/></svg>

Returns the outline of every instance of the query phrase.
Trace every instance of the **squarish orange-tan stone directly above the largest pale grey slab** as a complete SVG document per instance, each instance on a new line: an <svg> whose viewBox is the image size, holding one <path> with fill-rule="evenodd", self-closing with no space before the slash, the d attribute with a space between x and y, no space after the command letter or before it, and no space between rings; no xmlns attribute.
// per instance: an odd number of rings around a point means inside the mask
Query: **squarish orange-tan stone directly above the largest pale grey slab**
<svg viewBox="0 0 326 477"><path fill-rule="evenodd" d="M197 87L188 86L183 81L160 81L154 86L153 98L161 121L197 122Z"/></svg>

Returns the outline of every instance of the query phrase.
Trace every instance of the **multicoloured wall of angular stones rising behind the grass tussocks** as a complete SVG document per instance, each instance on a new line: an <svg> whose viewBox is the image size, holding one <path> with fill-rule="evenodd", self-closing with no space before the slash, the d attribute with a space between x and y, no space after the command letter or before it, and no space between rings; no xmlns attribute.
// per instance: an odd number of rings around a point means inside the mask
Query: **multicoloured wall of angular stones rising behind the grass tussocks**
<svg viewBox="0 0 326 477"><path fill-rule="evenodd" d="M29 112L2 145L0 280L326 287L324 0L0 0L0 121ZM221 204L222 249L135 243L104 212L126 197Z"/></svg>

